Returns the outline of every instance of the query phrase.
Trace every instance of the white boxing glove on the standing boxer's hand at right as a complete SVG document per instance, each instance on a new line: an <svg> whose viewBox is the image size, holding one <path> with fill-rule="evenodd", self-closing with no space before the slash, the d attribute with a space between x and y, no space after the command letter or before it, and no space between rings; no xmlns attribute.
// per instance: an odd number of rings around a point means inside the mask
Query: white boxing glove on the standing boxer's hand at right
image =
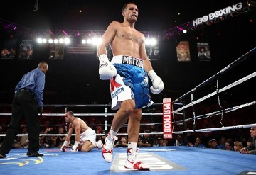
<svg viewBox="0 0 256 175"><path fill-rule="evenodd" d="M164 82L161 80L161 78L154 72L154 70L149 71L149 78L152 81L152 85L150 87L150 91L153 94L159 94L164 89Z"/></svg>

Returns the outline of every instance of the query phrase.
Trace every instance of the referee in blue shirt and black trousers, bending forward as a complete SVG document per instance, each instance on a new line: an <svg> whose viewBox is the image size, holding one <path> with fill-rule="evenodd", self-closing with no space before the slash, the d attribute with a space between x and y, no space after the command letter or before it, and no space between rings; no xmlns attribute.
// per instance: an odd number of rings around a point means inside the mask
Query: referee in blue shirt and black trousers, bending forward
<svg viewBox="0 0 256 175"><path fill-rule="evenodd" d="M43 156L39 154L38 111L43 113L43 89L45 85L45 74L48 64L40 62L38 67L23 75L21 81L15 87L15 95L11 106L11 121L0 150L0 158L6 157L11 150L11 145L21 127L21 120L25 116L28 129L28 152L29 157Z"/></svg>

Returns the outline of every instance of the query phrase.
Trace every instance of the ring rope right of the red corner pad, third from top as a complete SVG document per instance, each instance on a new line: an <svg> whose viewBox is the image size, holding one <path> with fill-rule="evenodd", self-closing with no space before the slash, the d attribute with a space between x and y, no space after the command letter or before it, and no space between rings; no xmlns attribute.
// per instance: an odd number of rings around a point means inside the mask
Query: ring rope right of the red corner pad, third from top
<svg viewBox="0 0 256 175"><path fill-rule="evenodd" d="M197 119L208 118L208 117L211 117L211 116L214 116L214 115L219 115L220 113L223 113L223 112L224 113L229 113L231 111L235 111L235 110L238 110L240 108L244 108L244 107L247 107L247 106L252 106L252 105L255 105L255 104L256 104L256 101L252 101L250 103L245 103L245 104L242 104L242 105L239 105L239 106L234 106L234 107L231 107L231 108L227 108L224 111L220 110L220 111L215 111L213 113L206 113L206 114L203 114L203 115L198 115ZM183 122L186 122L186 121L189 121L189 120L193 120L193 118L187 118L185 120L179 120L179 121L174 122L174 124L183 123Z"/></svg>

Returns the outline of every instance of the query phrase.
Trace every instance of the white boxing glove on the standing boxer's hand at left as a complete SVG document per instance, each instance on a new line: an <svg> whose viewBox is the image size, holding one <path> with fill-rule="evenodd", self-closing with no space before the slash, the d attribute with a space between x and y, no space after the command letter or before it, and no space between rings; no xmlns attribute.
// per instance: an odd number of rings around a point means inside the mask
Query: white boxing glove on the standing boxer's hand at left
<svg viewBox="0 0 256 175"><path fill-rule="evenodd" d="M112 79L112 77L117 75L117 69L114 65L108 60L107 55L102 54L99 57L100 65L99 65L99 74L100 79Z"/></svg>

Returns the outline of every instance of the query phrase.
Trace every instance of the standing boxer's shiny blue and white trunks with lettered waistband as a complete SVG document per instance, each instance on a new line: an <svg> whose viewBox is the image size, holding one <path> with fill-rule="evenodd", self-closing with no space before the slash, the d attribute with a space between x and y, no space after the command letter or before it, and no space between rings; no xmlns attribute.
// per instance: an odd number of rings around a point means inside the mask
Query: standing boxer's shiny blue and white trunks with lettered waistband
<svg viewBox="0 0 256 175"><path fill-rule="evenodd" d="M117 69L117 76L110 79L112 110L117 110L121 102L134 99L135 108L151 106L149 78L143 69L144 61L125 55L114 56L111 60Z"/></svg>

